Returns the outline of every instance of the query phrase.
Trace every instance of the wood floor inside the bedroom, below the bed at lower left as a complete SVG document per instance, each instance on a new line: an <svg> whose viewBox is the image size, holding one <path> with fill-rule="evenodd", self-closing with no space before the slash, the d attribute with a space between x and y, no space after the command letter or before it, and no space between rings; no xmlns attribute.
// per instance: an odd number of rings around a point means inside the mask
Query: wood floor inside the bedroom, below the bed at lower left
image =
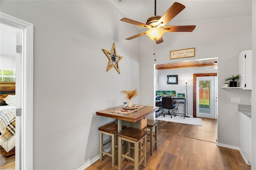
<svg viewBox="0 0 256 170"><path fill-rule="evenodd" d="M0 146L0 169L15 170L15 155L6 158L4 156L4 148L2 148L2 146Z"/></svg>

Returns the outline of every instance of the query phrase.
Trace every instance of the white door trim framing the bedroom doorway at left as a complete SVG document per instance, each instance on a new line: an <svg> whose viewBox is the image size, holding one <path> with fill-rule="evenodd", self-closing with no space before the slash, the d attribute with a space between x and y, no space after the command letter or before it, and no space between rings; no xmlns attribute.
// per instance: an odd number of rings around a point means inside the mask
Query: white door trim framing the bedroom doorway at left
<svg viewBox="0 0 256 170"><path fill-rule="evenodd" d="M33 169L33 24L0 12L0 23L23 30L21 165ZM16 169L17 169L16 168Z"/></svg>

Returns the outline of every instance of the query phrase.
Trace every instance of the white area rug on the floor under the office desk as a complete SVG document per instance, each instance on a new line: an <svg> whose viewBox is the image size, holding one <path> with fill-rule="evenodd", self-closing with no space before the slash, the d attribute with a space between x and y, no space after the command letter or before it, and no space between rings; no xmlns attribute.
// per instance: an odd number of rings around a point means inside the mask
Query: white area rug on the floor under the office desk
<svg viewBox="0 0 256 170"><path fill-rule="evenodd" d="M159 117L156 118L156 120L202 126L201 118L195 118L195 117L185 117L184 119L183 116L174 117L172 115L172 118L171 118L170 115L165 115L165 117L163 115L160 115Z"/></svg>

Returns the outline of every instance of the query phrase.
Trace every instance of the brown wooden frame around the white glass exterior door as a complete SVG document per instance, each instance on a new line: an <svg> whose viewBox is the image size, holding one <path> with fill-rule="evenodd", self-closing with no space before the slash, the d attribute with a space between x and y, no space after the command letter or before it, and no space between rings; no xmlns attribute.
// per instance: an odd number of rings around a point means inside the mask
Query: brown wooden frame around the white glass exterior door
<svg viewBox="0 0 256 170"><path fill-rule="evenodd" d="M193 74L193 117L196 117L196 77L217 76L217 73Z"/></svg>

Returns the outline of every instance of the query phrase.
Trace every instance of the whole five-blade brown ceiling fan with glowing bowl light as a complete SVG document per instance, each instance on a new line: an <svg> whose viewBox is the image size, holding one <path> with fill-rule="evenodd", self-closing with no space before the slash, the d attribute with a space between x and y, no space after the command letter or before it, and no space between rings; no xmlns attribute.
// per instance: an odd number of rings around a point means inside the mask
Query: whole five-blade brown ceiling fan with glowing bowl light
<svg viewBox="0 0 256 170"><path fill-rule="evenodd" d="M146 32L142 32L135 36L126 38L126 40L132 40L134 38L143 36L146 34L149 36L151 40L156 41L156 43L164 42L162 35L165 32L192 32L196 26L165 26L172 18L178 15L183 9L185 8L184 5L174 2L172 6L164 13L163 16L156 15L156 0L155 0L155 15L148 18L146 24L143 24L138 21L134 21L128 18L122 18L121 21L127 22L129 24L134 24L136 26L140 26L143 28L148 28Z"/></svg>

